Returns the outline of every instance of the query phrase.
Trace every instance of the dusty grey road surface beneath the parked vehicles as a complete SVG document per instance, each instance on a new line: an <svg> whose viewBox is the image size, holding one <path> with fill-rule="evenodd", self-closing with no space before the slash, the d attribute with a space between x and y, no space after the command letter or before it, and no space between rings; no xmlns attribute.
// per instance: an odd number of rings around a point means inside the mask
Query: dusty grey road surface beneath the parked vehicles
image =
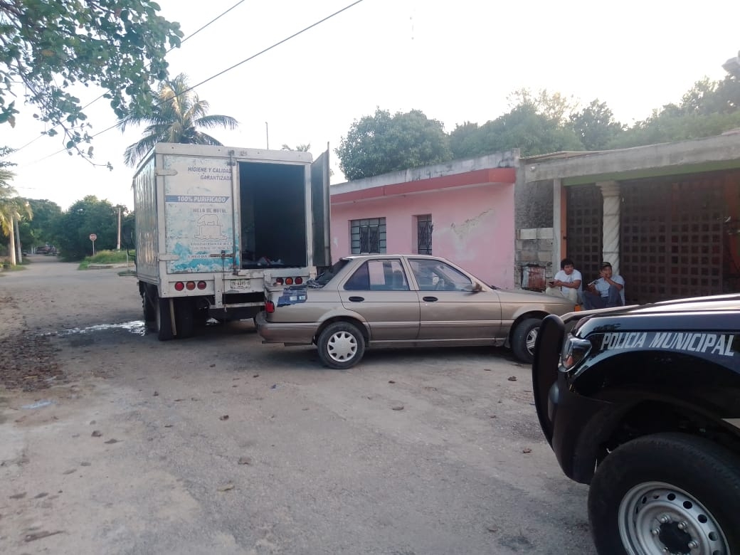
<svg viewBox="0 0 740 555"><path fill-rule="evenodd" d="M593 553L506 351L161 343L133 277L32 260L0 276L1 552Z"/></svg>

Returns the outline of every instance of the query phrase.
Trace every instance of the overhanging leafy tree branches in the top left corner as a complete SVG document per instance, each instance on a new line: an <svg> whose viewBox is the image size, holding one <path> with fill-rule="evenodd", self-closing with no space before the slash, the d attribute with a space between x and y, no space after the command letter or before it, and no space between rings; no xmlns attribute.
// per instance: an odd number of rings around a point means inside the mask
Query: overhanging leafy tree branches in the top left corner
<svg viewBox="0 0 740 555"><path fill-rule="evenodd" d="M21 107L63 129L67 148L90 141L81 102L68 92L94 84L119 118L149 112L151 83L167 76L165 53L178 47L179 24L151 0L0 1L0 123ZM23 101L16 104L20 95Z"/></svg>

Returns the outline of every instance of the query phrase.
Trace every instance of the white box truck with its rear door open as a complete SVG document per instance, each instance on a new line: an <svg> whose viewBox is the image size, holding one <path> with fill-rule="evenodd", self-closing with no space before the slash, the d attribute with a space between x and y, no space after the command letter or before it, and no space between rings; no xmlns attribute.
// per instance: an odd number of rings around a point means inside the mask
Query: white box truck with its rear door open
<svg viewBox="0 0 740 555"><path fill-rule="evenodd" d="M133 179L136 277L160 340L255 317L332 263L329 150L155 145Z"/></svg>

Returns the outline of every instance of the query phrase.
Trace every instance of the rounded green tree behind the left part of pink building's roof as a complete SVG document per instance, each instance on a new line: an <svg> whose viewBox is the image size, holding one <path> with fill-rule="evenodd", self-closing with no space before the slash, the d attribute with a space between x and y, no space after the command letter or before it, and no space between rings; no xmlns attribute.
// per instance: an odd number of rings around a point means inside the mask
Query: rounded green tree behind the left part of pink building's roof
<svg viewBox="0 0 740 555"><path fill-rule="evenodd" d="M391 116L380 108L374 115L355 120L334 152L349 180L439 164L452 157L442 122L427 118L420 110Z"/></svg>

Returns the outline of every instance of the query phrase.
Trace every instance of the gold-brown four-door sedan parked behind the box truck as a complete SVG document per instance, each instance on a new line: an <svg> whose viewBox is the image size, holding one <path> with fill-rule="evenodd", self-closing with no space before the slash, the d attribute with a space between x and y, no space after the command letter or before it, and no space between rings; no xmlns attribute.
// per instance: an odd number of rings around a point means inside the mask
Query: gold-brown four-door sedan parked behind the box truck
<svg viewBox="0 0 740 555"><path fill-rule="evenodd" d="M531 363L542 318L576 309L543 293L488 286L444 258L357 255L316 280L266 286L256 318L264 343L315 344L346 369L368 347L508 346Z"/></svg>

